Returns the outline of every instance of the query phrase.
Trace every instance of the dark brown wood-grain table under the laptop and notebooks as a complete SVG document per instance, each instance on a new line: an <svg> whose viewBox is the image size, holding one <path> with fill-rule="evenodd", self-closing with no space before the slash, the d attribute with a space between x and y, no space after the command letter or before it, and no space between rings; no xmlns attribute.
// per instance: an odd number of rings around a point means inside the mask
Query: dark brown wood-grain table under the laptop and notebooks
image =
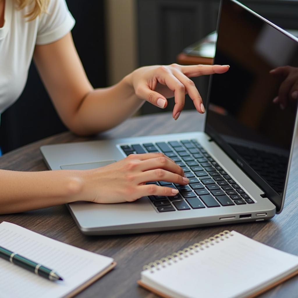
<svg viewBox="0 0 298 298"><path fill-rule="evenodd" d="M136 117L97 138L200 130L203 118L195 111L183 111L178 121L174 121L170 113ZM77 137L69 132L49 137L5 154L0 158L0 168L21 171L46 170L46 165L39 152L41 145L83 140L86 141L87 138ZM118 263L116 268L78 294L77 297L152 298L156 296L136 284L144 264L225 229L236 230L262 243L298 255L298 233L296 233L298 230L297 162L298 144L296 142L285 208L280 215L268 222L230 224L138 235L85 236L78 230L64 205L20 214L0 215L0 222L10 221L56 240L113 257ZM266 270L266 268L264 269ZM231 280L237 283L237 276L231 276ZM294 277L262 297L297 297L297 293L298 277Z"/></svg>

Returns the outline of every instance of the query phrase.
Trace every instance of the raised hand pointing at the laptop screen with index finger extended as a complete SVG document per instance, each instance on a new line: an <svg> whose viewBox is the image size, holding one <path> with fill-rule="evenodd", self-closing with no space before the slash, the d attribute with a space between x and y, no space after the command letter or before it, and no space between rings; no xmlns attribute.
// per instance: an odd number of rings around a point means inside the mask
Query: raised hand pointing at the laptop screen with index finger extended
<svg viewBox="0 0 298 298"><path fill-rule="evenodd" d="M159 108L165 108L167 98L175 96L173 118L177 120L184 107L185 94L193 100L199 113L205 112L201 95L190 77L222 74L228 69L228 65L154 65L136 69L127 76L127 79L133 86L136 96Z"/></svg>

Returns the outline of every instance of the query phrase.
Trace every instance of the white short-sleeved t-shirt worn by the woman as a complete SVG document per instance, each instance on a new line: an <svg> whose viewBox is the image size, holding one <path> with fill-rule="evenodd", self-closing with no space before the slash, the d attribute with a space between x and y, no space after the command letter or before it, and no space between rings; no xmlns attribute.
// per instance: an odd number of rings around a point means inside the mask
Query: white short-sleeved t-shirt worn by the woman
<svg viewBox="0 0 298 298"><path fill-rule="evenodd" d="M5 0L4 26L0 28L0 114L21 95L35 45L49 44L66 35L75 25L65 0L50 0L47 9L33 21Z"/></svg>

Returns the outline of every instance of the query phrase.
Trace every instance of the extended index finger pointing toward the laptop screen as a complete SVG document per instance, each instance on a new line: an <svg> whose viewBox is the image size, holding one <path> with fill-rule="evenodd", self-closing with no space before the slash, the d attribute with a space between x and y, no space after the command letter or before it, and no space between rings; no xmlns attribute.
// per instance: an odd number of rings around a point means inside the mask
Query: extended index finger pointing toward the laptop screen
<svg viewBox="0 0 298 298"><path fill-rule="evenodd" d="M229 65L187 65L181 66L181 71L187 77L198 77L201 75L223 74L229 70Z"/></svg>

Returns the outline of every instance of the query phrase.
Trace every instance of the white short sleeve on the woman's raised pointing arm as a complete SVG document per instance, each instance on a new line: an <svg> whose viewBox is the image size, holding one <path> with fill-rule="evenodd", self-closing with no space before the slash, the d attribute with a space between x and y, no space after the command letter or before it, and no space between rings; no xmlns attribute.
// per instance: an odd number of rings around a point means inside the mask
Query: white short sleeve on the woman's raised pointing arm
<svg viewBox="0 0 298 298"><path fill-rule="evenodd" d="M47 13L40 16L37 45L50 44L65 36L75 25L65 0L50 0Z"/></svg>

